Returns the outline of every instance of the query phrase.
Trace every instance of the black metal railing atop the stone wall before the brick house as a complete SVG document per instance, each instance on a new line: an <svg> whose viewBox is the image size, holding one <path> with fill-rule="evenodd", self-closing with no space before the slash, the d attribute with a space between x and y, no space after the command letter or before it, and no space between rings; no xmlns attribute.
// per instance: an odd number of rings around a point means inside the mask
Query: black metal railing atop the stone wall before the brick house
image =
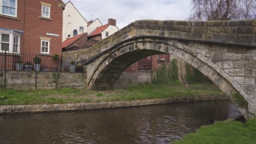
<svg viewBox="0 0 256 144"><path fill-rule="evenodd" d="M85 62L85 58L27 52L19 54L9 51L0 52L0 70L82 73Z"/></svg>

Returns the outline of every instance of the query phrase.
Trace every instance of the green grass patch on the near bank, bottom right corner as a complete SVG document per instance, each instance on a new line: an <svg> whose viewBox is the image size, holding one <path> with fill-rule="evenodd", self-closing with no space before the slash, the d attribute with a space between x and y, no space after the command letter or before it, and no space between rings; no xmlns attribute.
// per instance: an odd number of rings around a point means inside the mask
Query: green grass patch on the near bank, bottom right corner
<svg viewBox="0 0 256 144"><path fill-rule="evenodd" d="M246 124L235 121L216 122L213 125L201 127L195 134L189 134L184 139L173 144L189 143L256 143L256 119Z"/></svg>

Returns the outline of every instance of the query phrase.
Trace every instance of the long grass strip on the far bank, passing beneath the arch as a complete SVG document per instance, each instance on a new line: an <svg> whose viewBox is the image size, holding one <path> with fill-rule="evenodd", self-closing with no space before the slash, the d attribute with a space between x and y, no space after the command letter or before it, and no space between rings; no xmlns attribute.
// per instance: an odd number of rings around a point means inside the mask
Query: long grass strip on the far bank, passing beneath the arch
<svg viewBox="0 0 256 144"><path fill-rule="evenodd" d="M94 103L103 101L127 101L212 95L224 95L224 93L211 83L204 85L193 84L189 85L189 87L183 87L181 85L144 84L100 92L74 88L62 88L56 90L38 89L36 91L17 91L0 88L0 105Z"/></svg>

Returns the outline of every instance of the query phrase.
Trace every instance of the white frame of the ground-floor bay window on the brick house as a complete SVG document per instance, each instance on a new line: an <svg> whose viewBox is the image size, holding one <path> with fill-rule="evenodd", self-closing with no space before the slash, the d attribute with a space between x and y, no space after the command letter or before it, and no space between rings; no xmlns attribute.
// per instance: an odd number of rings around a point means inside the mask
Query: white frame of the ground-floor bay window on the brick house
<svg viewBox="0 0 256 144"><path fill-rule="evenodd" d="M2 30L0 30L0 52L5 52L5 51L2 51L2 45L1 45L1 43L3 43L2 34L9 34L9 51L8 52L20 54L20 34L15 32L2 31ZM15 45L18 45L17 52L14 52L14 37L18 37L18 44L15 44Z"/></svg>

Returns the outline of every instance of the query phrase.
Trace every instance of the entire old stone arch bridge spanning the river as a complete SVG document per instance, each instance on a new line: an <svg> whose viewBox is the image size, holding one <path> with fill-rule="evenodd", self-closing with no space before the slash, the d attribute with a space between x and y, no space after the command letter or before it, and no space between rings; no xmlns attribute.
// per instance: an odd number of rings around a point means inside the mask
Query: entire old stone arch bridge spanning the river
<svg viewBox="0 0 256 144"><path fill-rule="evenodd" d="M256 117L256 19L135 21L89 49L63 55L88 58L88 88L106 89L132 63L163 53L193 65L235 103L238 92L248 103L242 114Z"/></svg>

